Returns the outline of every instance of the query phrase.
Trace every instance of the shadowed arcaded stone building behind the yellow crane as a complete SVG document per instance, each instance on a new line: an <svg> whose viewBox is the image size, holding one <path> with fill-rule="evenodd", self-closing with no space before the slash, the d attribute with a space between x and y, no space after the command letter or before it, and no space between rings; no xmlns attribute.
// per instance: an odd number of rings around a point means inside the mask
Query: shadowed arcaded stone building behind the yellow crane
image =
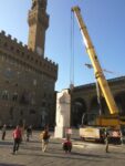
<svg viewBox="0 0 125 166"><path fill-rule="evenodd" d="M108 80L112 94L118 106L118 112L125 115L125 76ZM71 125L79 126L82 123L83 114L93 113L98 114L100 106L96 95L95 83L75 86L71 93ZM106 106L105 100L101 98L102 113L107 115L110 111Z"/></svg>

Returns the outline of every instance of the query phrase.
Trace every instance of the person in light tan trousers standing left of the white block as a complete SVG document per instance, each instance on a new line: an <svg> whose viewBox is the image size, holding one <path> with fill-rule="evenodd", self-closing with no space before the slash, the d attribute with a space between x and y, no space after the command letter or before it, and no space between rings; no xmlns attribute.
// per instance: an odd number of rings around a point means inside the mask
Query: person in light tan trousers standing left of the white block
<svg viewBox="0 0 125 166"><path fill-rule="evenodd" d="M46 152L49 139L50 139L49 127L44 128L40 137L42 138L42 152Z"/></svg>

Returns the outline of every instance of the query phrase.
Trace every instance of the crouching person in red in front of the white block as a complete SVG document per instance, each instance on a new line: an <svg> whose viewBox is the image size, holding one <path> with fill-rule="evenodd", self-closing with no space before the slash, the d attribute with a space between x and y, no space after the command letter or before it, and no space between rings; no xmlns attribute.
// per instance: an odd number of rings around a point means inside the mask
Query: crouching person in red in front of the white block
<svg viewBox="0 0 125 166"><path fill-rule="evenodd" d="M66 139L63 143L63 149L65 151L65 153L71 153L71 151L72 151L72 142L69 136L66 137Z"/></svg>

